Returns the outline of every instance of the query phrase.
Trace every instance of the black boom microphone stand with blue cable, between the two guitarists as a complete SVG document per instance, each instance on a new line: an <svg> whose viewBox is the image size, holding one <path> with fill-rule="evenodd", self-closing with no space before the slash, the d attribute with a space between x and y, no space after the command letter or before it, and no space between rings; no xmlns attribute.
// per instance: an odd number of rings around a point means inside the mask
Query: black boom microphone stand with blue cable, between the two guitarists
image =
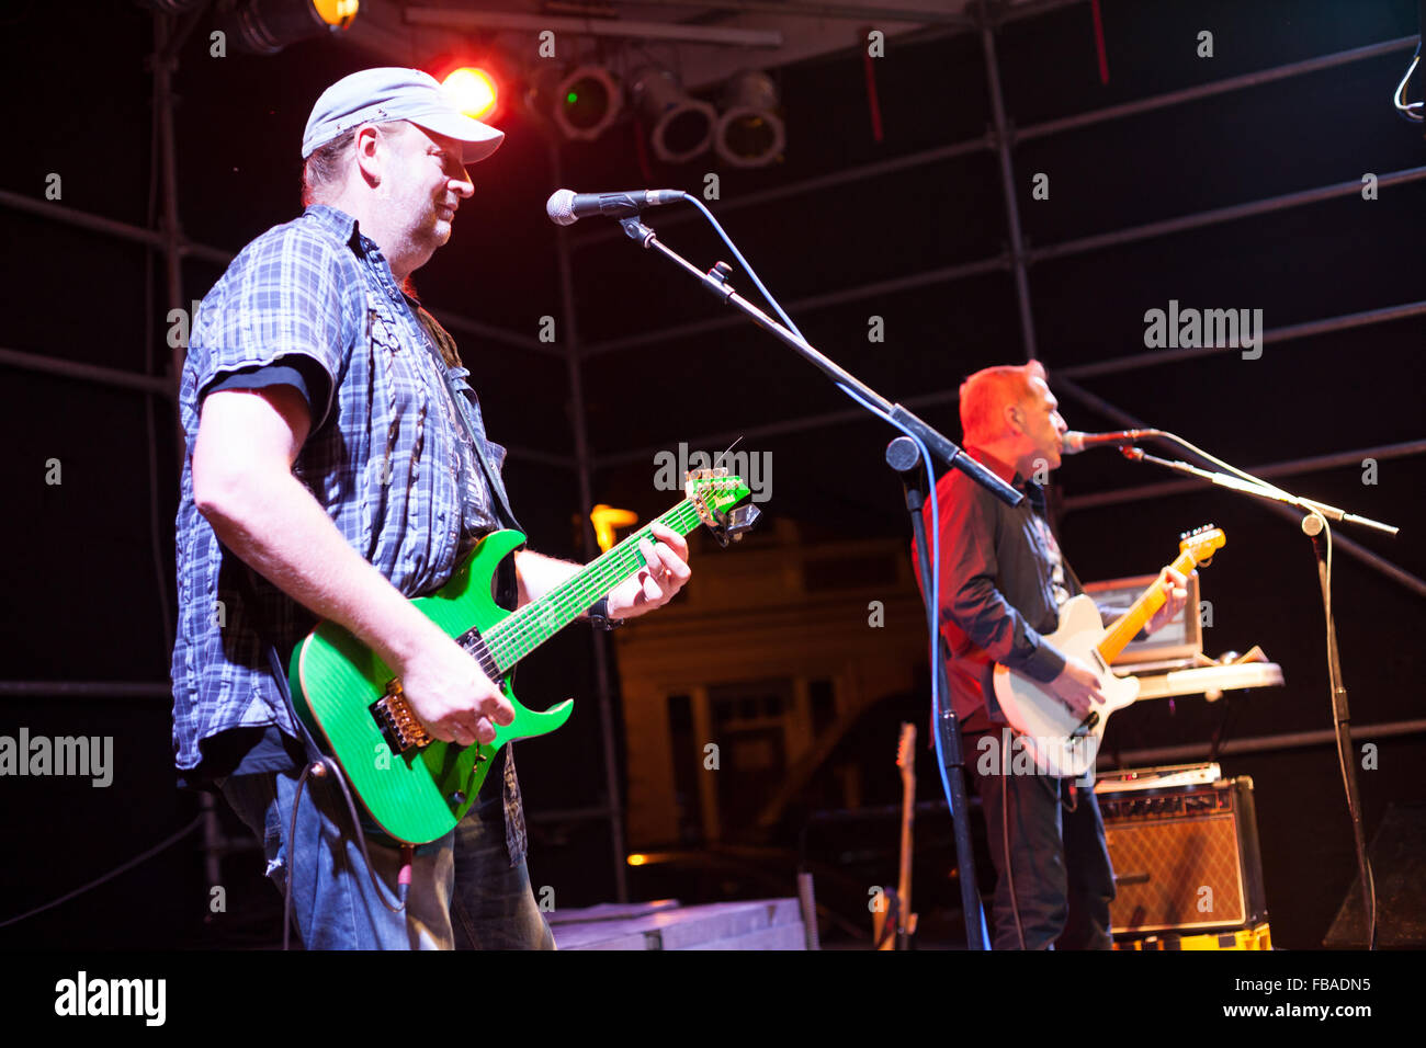
<svg viewBox="0 0 1426 1048"><path fill-rule="evenodd" d="M733 272L733 268L727 262L716 262L712 269L703 272L696 265L684 260L676 251L663 244L655 231L637 215L630 215L627 218L620 218L619 225L629 235L630 240L637 241L645 248L652 248L659 251L665 258L672 261L680 269L692 275L699 284L702 284L707 291L710 291L720 302L724 305L737 307L757 327L767 332L771 332L784 345L790 346L793 351L800 354L813 366L820 369L827 378L837 386L843 388L851 395L854 401L861 404L867 411L877 418L890 419L893 425L913 433L920 439L925 448L947 466L960 469L968 478L980 483L983 488L988 489L995 498L1010 506L1020 505L1021 499L1025 496L1017 492L1008 483L1001 481L995 473L983 466L980 462L965 455L961 448L943 433L933 429L927 422L920 419L914 412L901 406L900 404L893 404L886 399L871 386L861 382L846 368L840 366L834 361L829 359L816 346L813 346L807 339L801 338L796 332L790 331L786 325L769 317L759 307L749 302L746 298L739 295L727 278ZM910 443L910 441L908 441ZM893 448L897 442L893 442ZM903 476L906 471L914 469L915 463L911 462L906 465L906 459L901 453L893 452L891 448L887 449L887 462L893 469L901 472ZM900 463L900 465L898 465ZM927 472L931 475L931 482L934 483L934 472L931 471L931 463L927 462ZM927 606L927 622L935 620L935 599L937 595L931 590L931 565L925 555L925 535L921 525L921 492L914 489L908 482L904 481L906 486L906 500L907 512L911 515L911 529L915 535L917 550L921 569L921 595ZM951 804L951 818L955 827L955 860L960 867L960 881L961 881L961 908L965 917L965 945L970 950L984 950L987 948L985 941L985 923L984 914L981 911L980 891L975 885L975 857L971 851L970 841L970 817L968 804L965 798L965 780L964 780L964 756L961 753L961 737L960 724L955 720L955 714L950 706L950 692L945 687L947 673L945 673L945 656L941 644L940 636L933 636L934 656L931 659L931 672L935 673L935 679L940 682L941 694L941 709L937 711L938 724L937 730L940 733L941 746L941 760L943 760L943 781L950 781L950 804Z"/></svg>

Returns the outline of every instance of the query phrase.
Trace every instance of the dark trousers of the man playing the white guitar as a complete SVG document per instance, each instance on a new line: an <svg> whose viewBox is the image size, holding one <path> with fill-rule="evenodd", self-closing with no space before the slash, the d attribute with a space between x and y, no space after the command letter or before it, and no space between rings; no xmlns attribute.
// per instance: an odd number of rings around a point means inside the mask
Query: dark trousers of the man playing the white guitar
<svg viewBox="0 0 1426 1048"><path fill-rule="evenodd" d="M965 753L967 766L975 769L995 865L995 950L1020 948L1017 908L1027 950L1109 950L1114 868L1094 788L1050 776L998 774L998 761L992 774L983 774L973 756L978 740L967 736ZM1018 907L1012 907L1004 870L1007 823Z"/></svg>

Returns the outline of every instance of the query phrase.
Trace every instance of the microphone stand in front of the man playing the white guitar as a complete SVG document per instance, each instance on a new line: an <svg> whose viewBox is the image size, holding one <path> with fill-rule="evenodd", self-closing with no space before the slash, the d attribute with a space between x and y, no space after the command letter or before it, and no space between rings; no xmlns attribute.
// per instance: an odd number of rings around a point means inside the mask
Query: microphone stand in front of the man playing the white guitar
<svg viewBox="0 0 1426 1048"><path fill-rule="evenodd" d="M1166 433L1176 439L1172 433ZM1328 626L1328 686L1332 692L1332 720L1336 730L1338 760L1342 766L1342 781L1346 790L1346 807L1352 820L1352 837L1356 846L1356 867L1362 878L1362 917L1366 923L1366 948L1376 950L1376 883L1372 878L1372 863L1366 854L1366 833L1362 827L1362 798L1356 783L1356 761L1350 759L1352 750L1352 717L1348 711L1346 684L1342 680L1342 662L1338 656L1336 620L1332 617L1332 530L1328 519L1348 520L1366 528L1375 528L1396 535L1397 528L1372 520L1370 518L1348 513L1346 510L1329 506L1325 502L1305 499L1292 495L1273 485L1253 483L1238 476L1219 473L1211 469L1199 469L1186 462L1161 459L1139 448L1121 448L1119 452L1131 462L1152 462L1156 466L1186 473L1204 481L1209 481L1219 488L1252 495L1259 499L1272 499L1296 506L1305 510L1302 518L1302 532L1312 539L1312 552L1318 558L1318 585L1322 587L1322 609Z"/></svg>

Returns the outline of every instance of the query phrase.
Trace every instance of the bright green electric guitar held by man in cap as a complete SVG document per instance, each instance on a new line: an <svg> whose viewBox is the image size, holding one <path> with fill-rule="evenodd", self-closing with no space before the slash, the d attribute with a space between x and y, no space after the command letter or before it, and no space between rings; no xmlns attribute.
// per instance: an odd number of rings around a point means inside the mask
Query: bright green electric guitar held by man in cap
<svg viewBox="0 0 1426 1048"><path fill-rule="evenodd" d="M726 546L753 526L759 510L734 509L749 488L726 469L689 473L687 498L659 518L680 535L706 523ZM543 713L515 697L515 663L583 615L590 605L645 566L640 528L539 600L506 612L491 597L496 566L525 536L486 535L456 566L451 580L412 603L468 650L515 707L515 720L498 724L495 740L456 746L432 739L401 682L381 657L344 627L324 622L292 652L289 680L298 716L324 741L375 823L406 844L425 844L452 830L475 803L491 757L515 739L553 731L569 720L573 700Z"/></svg>

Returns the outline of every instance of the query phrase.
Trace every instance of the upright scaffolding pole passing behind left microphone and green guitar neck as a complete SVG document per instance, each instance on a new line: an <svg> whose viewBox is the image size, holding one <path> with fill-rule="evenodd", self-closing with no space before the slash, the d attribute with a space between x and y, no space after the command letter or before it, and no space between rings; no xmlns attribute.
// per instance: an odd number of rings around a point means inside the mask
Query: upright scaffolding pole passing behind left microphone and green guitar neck
<svg viewBox="0 0 1426 1048"><path fill-rule="evenodd" d="M555 185L563 185L559 143L553 135L546 135L546 145L553 183ZM566 361L569 365L569 396L573 408L570 425L575 431L575 461L579 476L579 533L583 536L585 559L593 560L599 555L599 543L595 540L595 528L589 519L589 510L595 505L593 483L590 479L589 422L585 416L585 385L583 375L580 374L575 278L569 262L569 234L563 227L555 234L555 250L559 261L559 298L565 325ZM599 690L599 729L605 746L605 790L607 794L609 846L613 850L615 895L617 901L627 903L629 884L625 875L623 824L620 821L623 806L620 801L622 790L619 788L619 767L616 763L613 694L609 687L609 639L603 630L593 630L590 643L595 653L595 686Z"/></svg>

